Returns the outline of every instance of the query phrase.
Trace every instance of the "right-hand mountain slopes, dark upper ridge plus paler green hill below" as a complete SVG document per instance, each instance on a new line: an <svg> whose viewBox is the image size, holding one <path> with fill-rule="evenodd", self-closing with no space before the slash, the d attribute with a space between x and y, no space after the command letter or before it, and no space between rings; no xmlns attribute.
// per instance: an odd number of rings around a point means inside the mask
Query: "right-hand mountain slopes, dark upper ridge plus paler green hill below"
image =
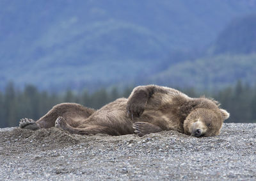
<svg viewBox="0 0 256 181"><path fill-rule="evenodd" d="M146 83L218 90L241 80L256 85L256 14L231 20L208 53L170 65Z"/></svg>

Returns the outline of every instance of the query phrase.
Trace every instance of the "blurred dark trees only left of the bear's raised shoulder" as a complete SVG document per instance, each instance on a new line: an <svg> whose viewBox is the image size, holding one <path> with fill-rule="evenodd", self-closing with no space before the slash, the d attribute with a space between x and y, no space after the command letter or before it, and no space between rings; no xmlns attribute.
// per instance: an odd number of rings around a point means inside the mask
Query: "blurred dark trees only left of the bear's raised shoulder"
<svg viewBox="0 0 256 181"><path fill-rule="evenodd" d="M35 86L28 85L24 90L17 90L13 83L9 83L4 91L0 91L0 127L15 127L21 118L37 120L49 111L52 106L61 102L77 102L86 107L99 109L108 102L119 97L128 97L132 88L120 93L117 88L110 91L102 88L94 93L83 91L74 93L67 90L65 93L49 93L38 91Z"/></svg>

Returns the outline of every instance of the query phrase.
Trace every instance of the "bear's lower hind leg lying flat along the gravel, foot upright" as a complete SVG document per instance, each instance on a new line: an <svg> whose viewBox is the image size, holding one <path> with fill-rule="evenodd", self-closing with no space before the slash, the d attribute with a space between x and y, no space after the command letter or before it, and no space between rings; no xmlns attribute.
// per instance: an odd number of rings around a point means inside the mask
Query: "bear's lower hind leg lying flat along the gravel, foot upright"
<svg viewBox="0 0 256 181"><path fill-rule="evenodd" d="M85 128L74 128L68 125L66 120L63 117L58 117L55 122L55 127L61 128L63 130L67 130L68 132L72 134L109 134L112 136L118 136L120 135L119 132L117 132L114 129L111 129L109 127L103 127L100 125L88 125L88 127Z"/></svg>

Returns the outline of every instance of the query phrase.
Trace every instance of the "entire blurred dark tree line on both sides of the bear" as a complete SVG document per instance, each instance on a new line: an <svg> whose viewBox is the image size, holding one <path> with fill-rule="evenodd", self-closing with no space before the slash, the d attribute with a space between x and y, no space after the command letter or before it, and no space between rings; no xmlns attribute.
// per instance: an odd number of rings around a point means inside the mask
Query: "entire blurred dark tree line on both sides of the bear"
<svg viewBox="0 0 256 181"><path fill-rule="evenodd" d="M28 85L24 90L15 89L9 83L4 91L0 91L0 127L13 127L19 125L20 118L33 118L37 120L47 113L52 106L61 102L77 102L86 107L99 109L118 97L128 97L132 88L120 92L117 88L107 91L102 88L94 93L83 91L74 93L70 90L63 94L38 91L35 86ZM199 97L193 88L181 90L191 97ZM205 93L214 97L227 109L230 118L226 122L256 122L256 87L237 82L236 86L228 87L216 93Z"/></svg>

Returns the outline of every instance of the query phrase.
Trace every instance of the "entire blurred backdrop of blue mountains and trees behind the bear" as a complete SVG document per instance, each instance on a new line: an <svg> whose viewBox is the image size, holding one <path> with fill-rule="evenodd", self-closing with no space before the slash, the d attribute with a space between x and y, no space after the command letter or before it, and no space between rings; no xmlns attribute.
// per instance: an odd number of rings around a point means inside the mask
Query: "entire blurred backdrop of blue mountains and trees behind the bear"
<svg viewBox="0 0 256 181"><path fill-rule="evenodd" d="M0 127L134 86L214 97L256 122L256 0L1 0Z"/></svg>

